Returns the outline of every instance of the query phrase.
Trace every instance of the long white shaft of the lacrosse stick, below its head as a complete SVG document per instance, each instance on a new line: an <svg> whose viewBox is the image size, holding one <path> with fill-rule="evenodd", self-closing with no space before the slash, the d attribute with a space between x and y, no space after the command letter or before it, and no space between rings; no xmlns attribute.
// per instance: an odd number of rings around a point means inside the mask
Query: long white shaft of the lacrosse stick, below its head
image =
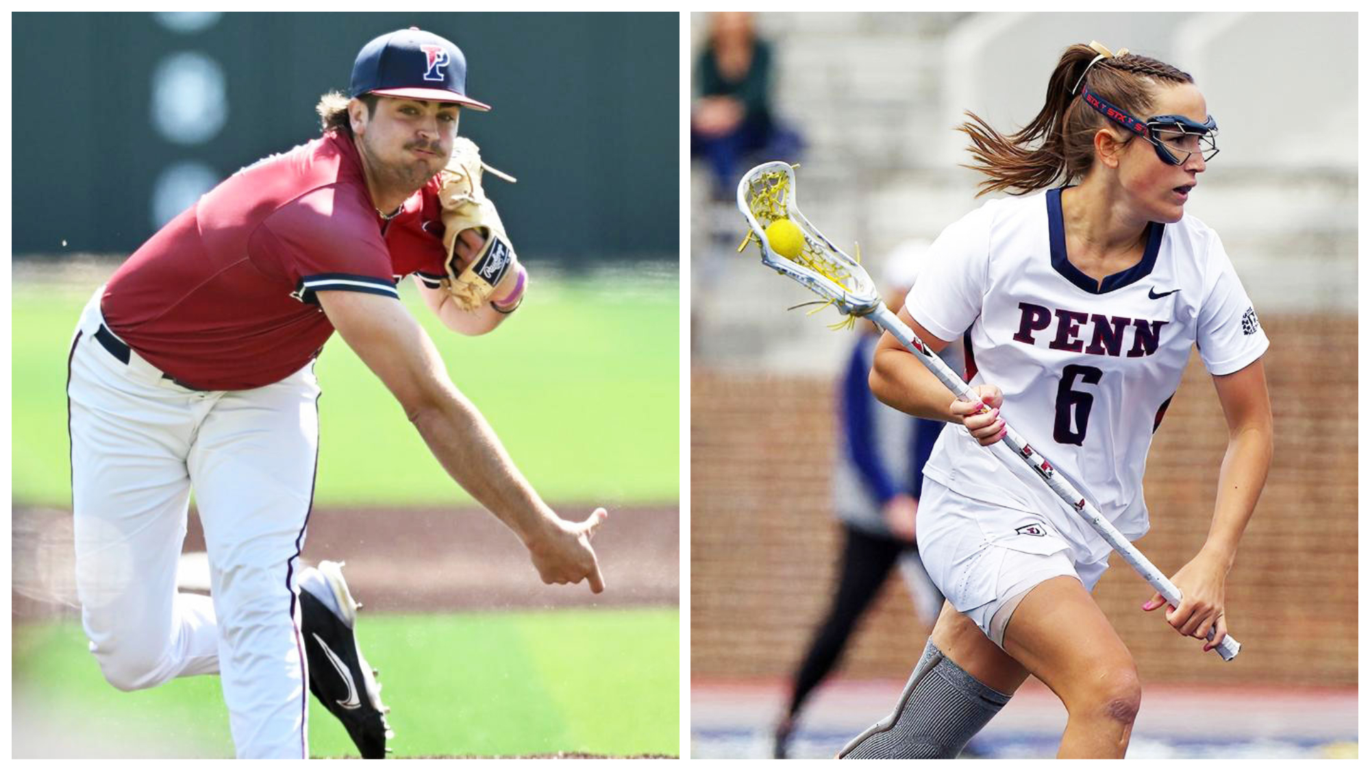
<svg viewBox="0 0 1370 771"><path fill-rule="evenodd" d="M888 307L884 305L877 306L875 310L867 316L867 318L874 321L881 329L893 335L896 340L908 348L908 351L912 353L918 361L923 362L923 365L943 381L943 386L949 388L952 394L956 394L956 398L966 402L980 401L980 394L971 390L964 380L952 372L952 369L947 366L947 362L933 353L932 348L923 344L923 342L914 335L914 331L910 329L907 324L900 321L899 317L895 316ZM989 407L985 409L988 412ZM1051 491L1064 501L1071 509L1080 512L1080 516L1082 516L1085 521L1095 528L1095 532L1097 532L1114 551L1121 554L1122 558L1126 560L1128 564L1147 580L1147 583L1160 593L1160 595L1166 598L1166 602L1178 606L1181 598L1180 589L1175 587L1175 584L1171 583L1170 579L1156 568L1156 565L1152 565L1151 560L1138 551L1137 547L1133 546L1132 542L1128 541L1128 538L1123 536L1123 534L1119 532L1111 521L1106 520L1099 509L1086 501L1085 497L1070 484L1070 482L1056 473L1051 464L1047 462L1047 458L1037 453L1037 450L1034 450L1026 439L1015 432L1014 428L1008 425L1008 421L1004 421L1004 428L1007 429L1007 435L1001 440L989 446L989 450L995 453L995 457L997 457L1006 466L1014 462L1011 458L1018 458L1019 461L1028 464L1034 472L1037 472L1037 477L1047 483L1047 487L1049 487ZM1214 634L1210 631L1208 639L1212 639L1212 637ZM1241 643L1233 639L1232 635L1228 635L1221 643L1218 643L1217 648L1214 648L1214 650L1217 650L1225 661L1232 661L1241 650Z"/></svg>

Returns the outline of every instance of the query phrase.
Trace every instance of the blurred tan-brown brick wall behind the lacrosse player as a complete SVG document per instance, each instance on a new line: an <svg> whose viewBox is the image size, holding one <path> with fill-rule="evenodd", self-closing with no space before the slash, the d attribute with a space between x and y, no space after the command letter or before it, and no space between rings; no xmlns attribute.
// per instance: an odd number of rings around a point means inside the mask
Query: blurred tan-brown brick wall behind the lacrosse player
<svg viewBox="0 0 1370 771"><path fill-rule="evenodd" d="M1262 324L1273 342L1265 362L1275 458L1228 586L1232 631L1245 648L1223 664L1143 613L1151 589L1115 557L1096 598L1149 683L1356 683L1356 321ZM786 676L836 573L833 387L697 368L690 381L692 674ZM1145 477L1152 528L1138 546L1167 573L1203 543L1225 446L1222 410L1195 355ZM841 671L904 678L926 632L896 573Z"/></svg>

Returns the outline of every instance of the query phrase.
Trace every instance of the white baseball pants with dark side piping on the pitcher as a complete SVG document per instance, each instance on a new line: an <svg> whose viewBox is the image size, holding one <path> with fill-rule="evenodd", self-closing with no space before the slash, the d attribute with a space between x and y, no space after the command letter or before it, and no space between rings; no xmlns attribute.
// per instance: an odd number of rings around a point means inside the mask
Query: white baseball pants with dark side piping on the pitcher
<svg viewBox="0 0 1370 771"><path fill-rule="evenodd" d="M308 757L295 576L318 458L312 365L248 391L181 387L96 339L103 292L81 316L67 384L90 652L122 690L218 672L238 757ZM177 591L192 487L212 600Z"/></svg>

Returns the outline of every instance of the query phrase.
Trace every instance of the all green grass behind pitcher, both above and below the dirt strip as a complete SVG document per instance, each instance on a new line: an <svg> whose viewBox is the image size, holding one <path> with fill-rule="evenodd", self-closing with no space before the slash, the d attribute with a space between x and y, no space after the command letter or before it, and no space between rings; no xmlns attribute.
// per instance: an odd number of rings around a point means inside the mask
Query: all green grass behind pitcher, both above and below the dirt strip
<svg viewBox="0 0 1370 771"><path fill-rule="evenodd" d="M453 383L551 502L680 497L680 302L674 276L537 280L482 337L441 328L404 291ZM14 288L14 503L70 506L66 355L88 287ZM319 506L467 502L379 380L334 337L319 358ZM366 615L397 756L678 755L680 613L575 609ZM16 756L232 756L218 678L121 693L74 623L16 623ZM311 701L311 753L355 755Z"/></svg>

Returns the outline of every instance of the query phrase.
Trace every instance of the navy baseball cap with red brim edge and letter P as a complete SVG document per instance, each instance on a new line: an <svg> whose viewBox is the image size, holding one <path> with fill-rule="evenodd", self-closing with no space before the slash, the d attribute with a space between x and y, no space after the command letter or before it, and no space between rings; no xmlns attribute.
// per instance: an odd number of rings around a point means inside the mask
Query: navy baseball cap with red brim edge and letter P
<svg viewBox="0 0 1370 771"><path fill-rule="evenodd" d="M466 96L466 56L451 40L419 27L396 30L362 47L352 64L348 96L363 93L455 102L471 110L490 106Z"/></svg>

